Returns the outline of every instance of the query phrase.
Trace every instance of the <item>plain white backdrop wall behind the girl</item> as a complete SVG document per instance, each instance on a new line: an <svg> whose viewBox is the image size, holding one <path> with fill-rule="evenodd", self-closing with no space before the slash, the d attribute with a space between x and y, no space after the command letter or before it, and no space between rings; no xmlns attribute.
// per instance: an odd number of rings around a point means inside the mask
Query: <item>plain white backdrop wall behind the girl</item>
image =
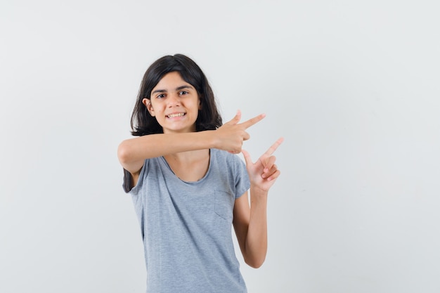
<svg viewBox="0 0 440 293"><path fill-rule="evenodd" d="M439 27L434 0L1 0L0 292L145 292L116 150L174 53L224 122L266 113L252 159L285 138L250 293L440 292Z"/></svg>

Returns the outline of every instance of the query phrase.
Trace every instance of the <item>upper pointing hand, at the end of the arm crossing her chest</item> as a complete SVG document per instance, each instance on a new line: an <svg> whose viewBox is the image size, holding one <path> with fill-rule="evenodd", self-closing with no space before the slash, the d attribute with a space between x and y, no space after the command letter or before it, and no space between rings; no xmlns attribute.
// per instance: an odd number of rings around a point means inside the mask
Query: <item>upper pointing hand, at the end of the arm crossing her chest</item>
<svg viewBox="0 0 440 293"><path fill-rule="evenodd" d="M226 122L216 129L216 148L227 150L233 154L240 153L243 141L247 141L250 138L246 129L256 124L264 117L266 117L266 115L260 114L239 124L238 122L240 122L241 119L241 112L238 110L237 114L231 119L231 121Z"/></svg>

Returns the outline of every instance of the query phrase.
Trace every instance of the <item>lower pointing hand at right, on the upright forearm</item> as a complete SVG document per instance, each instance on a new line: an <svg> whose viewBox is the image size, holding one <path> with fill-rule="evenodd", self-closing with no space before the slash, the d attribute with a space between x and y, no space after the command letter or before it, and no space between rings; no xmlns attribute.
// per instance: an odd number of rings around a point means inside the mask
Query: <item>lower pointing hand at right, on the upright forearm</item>
<svg viewBox="0 0 440 293"><path fill-rule="evenodd" d="M269 188L275 183L276 178L280 176L280 170L276 167L273 152L278 148L278 146L283 143L284 138L278 138L278 141L273 143L266 152L264 152L257 162L252 163L249 152L242 150L242 154L245 157L247 174L255 187L261 190L268 191Z"/></svg>

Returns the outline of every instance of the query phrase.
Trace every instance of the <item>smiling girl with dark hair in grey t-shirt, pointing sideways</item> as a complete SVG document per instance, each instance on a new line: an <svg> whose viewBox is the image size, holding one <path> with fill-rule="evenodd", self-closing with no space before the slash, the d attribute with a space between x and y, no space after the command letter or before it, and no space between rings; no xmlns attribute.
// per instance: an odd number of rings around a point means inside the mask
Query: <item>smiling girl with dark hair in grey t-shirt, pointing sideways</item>
<svg viewBox="0 0 440 293"><path fill-rule="evenodd" d="M242 143L264 115L240 117L222 124L205 74L187 56L164 56L145 72L131 116L138 137L117 155L141 225L147 292L247 292L232 226L245 262L264 262L268 190L280 175L272 153L283 138L253 163Z"/></svg>

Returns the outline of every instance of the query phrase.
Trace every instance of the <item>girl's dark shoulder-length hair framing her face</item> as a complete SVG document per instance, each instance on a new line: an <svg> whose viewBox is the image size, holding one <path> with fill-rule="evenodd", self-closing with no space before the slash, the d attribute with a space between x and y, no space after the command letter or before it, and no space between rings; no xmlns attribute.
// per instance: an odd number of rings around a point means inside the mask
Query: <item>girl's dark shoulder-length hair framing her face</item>
<svg viewBox="0 0 440 293"><path fill-rule="evenodd" d="M179 72L182 79L194 86L200 98L201 110L195 121L195 130L214 130L222 124L221 115L217 110L216 100L209 82L200 67L190 58L182 54L163 56L148 67L143 75L138 92L136 105L131 115L131 134L144 136L147 134L162 134L163 129L155 117L150 115L143 98L150 100L151 91L160 79L169 72Z"/></svg>

